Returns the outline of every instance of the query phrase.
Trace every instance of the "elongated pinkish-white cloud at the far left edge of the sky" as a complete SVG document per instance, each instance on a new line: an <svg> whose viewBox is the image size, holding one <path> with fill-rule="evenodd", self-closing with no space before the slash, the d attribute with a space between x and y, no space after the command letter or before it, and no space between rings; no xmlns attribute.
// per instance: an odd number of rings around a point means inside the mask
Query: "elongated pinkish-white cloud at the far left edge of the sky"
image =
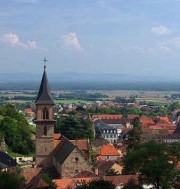
<svg viewBox="0 0 180 189"><path fill-rule="evenodd" d="M24 49L35 49L37 48L35 41L27 41L26 43L22 43L19 40L18 35L13 33L7 33L4 35L0 35L0 41L10 44L14 47L22 47Z"/></svg>

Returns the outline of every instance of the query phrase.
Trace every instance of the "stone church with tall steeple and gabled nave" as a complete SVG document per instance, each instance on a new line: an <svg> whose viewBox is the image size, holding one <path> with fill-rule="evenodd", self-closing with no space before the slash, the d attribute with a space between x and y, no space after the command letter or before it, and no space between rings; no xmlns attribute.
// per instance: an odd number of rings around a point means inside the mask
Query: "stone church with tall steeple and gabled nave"
<svg viewBox="0 0 180 189"><path fill-rule="evenodd" d="M88 139L71 141L54 133L54 100L49 89L46 66L42 76L36 106L36 166L54 168L60 178L73 177L82 171L92 171L89 163ZM58 136L58 137L57 137Z"/></svg>

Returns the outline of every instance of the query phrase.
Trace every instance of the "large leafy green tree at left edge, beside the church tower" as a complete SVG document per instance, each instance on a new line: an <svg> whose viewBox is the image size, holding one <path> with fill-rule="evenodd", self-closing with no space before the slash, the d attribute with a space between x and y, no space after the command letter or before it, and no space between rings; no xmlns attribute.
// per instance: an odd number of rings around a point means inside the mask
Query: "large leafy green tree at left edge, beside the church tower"
<svg viewBox="0 0 180 189"><path fill-rule="evenodd" d="M0 114L3 115L3 119L0 120L1 135L8 148L21 154L31 153L33 151L32 133L24 115L9 104L0 107Z"/></svg>

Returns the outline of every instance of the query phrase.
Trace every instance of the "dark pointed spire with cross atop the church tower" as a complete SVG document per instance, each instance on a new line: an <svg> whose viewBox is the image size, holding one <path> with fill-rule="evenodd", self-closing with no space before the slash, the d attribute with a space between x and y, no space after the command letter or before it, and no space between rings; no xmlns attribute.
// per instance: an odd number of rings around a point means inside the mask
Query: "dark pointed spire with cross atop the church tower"
<svg viewBox="0 0 180 189"><path fill-rule="evenodd" d="M46 58L44 63L46 63ZM35 101L36 104L54 104L53 97L51 95L47 74L46 74L46 65L44 64L44 73L41 80L41 85L39 88L39 93Z"/></svg>

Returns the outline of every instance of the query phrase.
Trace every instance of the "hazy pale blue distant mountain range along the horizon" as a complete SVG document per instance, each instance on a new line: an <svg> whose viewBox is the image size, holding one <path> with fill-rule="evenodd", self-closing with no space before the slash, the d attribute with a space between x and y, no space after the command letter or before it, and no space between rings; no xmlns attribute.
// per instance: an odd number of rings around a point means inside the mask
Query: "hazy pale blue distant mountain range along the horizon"
<svg viewBox="0 0 180 189"><path fill-rule="evenodd" d="M42 74L32 73L0 73L0 82L27 82L40 81ZM48 73L51 82L179 82L180 78L168 78L159 76L135 76L124 73Z"/></svg>

